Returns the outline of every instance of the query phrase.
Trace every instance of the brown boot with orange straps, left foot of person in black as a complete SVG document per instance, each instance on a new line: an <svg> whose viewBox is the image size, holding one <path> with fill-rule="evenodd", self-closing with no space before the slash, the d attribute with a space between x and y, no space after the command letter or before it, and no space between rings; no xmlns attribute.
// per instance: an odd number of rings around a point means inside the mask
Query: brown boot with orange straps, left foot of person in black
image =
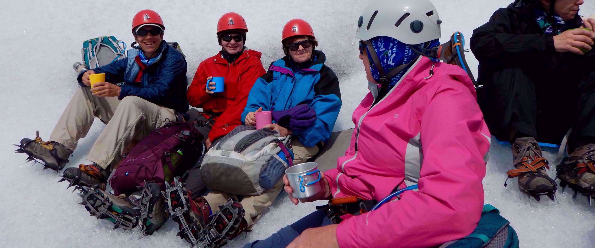
<svg viewBox="0 0 595 248"><path fill-rule="evenodd" d="M533 137L515 139L512 145L513 165L506 174L509 178L518 177L519 190L533 196L539 201L539 196L547 195L554 200L556 183L547 175L549 162L541 155L541 147ZM507 179L508 180L508 179ZM504 184L506 186L506 183Z"/></svg>

